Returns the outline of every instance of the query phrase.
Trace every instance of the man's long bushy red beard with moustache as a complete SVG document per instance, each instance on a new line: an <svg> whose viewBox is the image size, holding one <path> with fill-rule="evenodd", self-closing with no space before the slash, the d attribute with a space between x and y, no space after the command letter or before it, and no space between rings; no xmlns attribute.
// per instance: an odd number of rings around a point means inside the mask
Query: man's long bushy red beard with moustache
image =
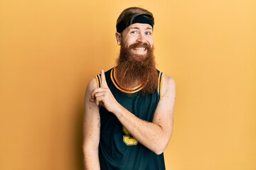
<svg viewBox="0 0 256 170"><path fill-rule="evenodd" d="M146 55L132 53L134 47L145 47ZM121 45L116 70L119 86L127 89L137 84L143 84L142 94L152 94L156 91L158 74L153 50L154 47L150 47L146 43L136 43L128 48Z"/></svg>

